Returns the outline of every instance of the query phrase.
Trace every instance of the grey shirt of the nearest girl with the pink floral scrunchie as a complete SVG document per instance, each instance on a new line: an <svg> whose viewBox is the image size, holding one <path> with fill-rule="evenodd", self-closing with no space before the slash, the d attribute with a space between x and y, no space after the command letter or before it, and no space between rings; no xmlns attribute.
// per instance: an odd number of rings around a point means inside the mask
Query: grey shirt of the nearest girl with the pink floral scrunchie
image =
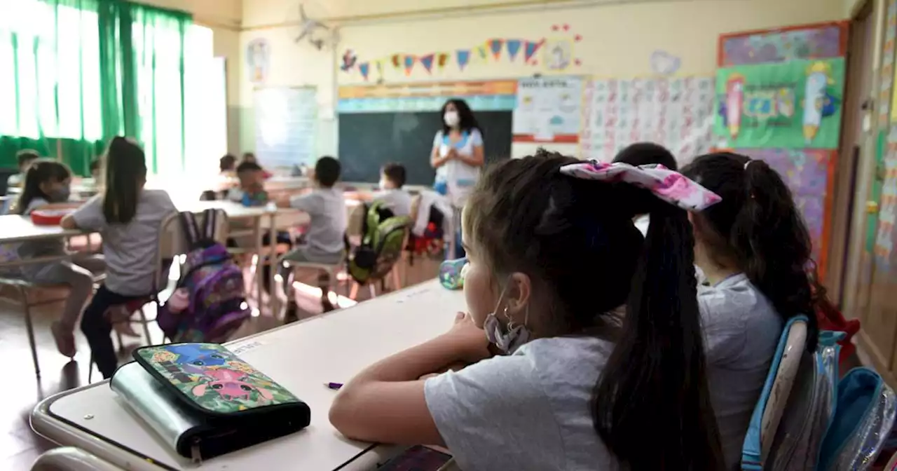
<svg viewBox="0 0 897 471"><path fill-rule="evenodd" d="M539 338L427 379L427 408L464 471L615 470L590 406L613 349L596 337Z"/></svg>

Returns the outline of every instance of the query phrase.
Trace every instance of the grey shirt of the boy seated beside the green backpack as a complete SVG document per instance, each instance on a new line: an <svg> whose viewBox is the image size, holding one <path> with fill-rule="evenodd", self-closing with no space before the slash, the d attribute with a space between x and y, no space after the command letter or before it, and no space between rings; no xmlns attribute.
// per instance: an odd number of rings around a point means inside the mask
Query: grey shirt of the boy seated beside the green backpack
<svg viewBox="0 0 897 471"><path fill-rule="evenodd" d="M311 216L305 232L309 256L330 256L345 249L345 198L338 188L315 188L305 195L290 198L290 205Z"/></svg>

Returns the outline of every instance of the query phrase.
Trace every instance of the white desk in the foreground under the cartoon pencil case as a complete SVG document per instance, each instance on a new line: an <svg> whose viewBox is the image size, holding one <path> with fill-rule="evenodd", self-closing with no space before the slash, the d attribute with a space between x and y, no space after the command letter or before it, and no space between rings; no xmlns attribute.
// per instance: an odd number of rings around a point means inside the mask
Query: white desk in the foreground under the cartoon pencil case
<svg viewBox="0 0 897 471"><path fill-rule="evenodd" d="M335 391L323 383L344 382L372 362L440 335L451 327L458 310L465 310L464 294L433 280L231 342L228 348L309 405L311 424L302 432L209 459L199 467L139 422L108 381L48 397L31 413L31 427L49 440L134 470L318 471L347 463L352 466L344 469L370 468L389 447L339 435L327 420Z"/></svg>

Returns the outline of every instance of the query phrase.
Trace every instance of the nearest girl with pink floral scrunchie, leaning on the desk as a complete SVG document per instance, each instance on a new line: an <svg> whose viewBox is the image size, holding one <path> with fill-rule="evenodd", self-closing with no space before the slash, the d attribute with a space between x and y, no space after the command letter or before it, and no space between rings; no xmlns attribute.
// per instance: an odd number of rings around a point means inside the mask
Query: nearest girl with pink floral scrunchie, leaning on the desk
<svg viewBox="0 0 897 471"><path fill-rule="evenodd" d="M361 371L331 423L448 446L467 470L720 469L686 213L717 200L672 170L545 151L495 164L463 214L469 314ZM474 364L419 379L455 362Z"/></svg>

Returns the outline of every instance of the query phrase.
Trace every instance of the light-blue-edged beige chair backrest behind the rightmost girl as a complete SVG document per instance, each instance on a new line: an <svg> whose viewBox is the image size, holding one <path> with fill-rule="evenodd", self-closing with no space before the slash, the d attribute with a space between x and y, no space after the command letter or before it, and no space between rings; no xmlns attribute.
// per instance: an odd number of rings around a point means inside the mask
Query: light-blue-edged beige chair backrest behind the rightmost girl
<svg viewBox="0 0 897 471"><path fill-rule="evenodd" d="M788 405L788 396L794 386L805 348L806 317L791 318L779 337L779 346L772 358L760 400L753 409L742 449L742 469L763 468L785 406Z"/></svg>

